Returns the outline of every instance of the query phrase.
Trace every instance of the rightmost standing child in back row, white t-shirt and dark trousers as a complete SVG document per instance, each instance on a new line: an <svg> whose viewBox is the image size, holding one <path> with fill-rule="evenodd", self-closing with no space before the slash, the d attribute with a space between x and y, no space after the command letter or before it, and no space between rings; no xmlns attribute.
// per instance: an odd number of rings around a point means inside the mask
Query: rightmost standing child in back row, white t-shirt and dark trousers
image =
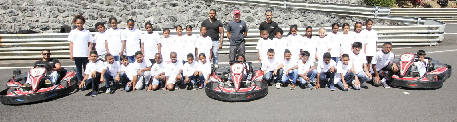
<svg viewBox="0 0 457 122"><path fill-rule="evenodd" d="M365 30L363 30L361 33L363 33L365 36L367 36L366 40L366 46L364 47L364 53L367 55L367 62L368 62L368 70L370 70L372 58L377 52L377 31L372 29L373 26L373 20L366 20L365 21Z"/></svg>

